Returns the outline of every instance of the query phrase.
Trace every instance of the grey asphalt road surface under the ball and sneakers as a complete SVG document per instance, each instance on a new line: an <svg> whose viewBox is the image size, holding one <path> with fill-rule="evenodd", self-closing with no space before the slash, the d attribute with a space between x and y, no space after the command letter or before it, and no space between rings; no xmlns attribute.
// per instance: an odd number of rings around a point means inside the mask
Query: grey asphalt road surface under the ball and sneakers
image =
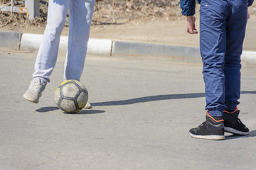
<svg viewBox="0 0 256 170"><path fill-rule="evenodd" d="M256 69L242 68L245 137L197 140L205 120L202 64L158 57L88 56L82 83L92 109L65 114L53 94L64 55L38 104L22 98L36 53L0 53L0 169L255 169Z"/></svg>

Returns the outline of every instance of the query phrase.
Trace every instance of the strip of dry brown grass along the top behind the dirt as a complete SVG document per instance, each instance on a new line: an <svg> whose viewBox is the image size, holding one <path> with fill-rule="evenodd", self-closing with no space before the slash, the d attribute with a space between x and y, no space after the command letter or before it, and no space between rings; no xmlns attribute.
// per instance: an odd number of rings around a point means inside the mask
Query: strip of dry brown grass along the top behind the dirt
<svg viewBox="0 0 256 170"><path fill-rule="evenodd" d="M0 5L10 6L11 0L0 0ZM14 0L14 6L24 6L24 0ZM40 1L40 17L28 20L26 14L0 11L0 27L28 28L45 26L48 0ZM172 20L180 15L178 0L104 0L95 5L92 24L126 23L137 20L154 20L155 18ZM66 19L68 26L68 17Z"/></svg>

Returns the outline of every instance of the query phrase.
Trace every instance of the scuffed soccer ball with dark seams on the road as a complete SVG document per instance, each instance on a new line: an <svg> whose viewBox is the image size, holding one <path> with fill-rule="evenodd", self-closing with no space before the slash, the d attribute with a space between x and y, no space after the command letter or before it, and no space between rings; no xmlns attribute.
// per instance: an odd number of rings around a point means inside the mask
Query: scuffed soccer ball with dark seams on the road
<svg viewBox="0 0 256 170"><path fill-rule="evenodd" d="M57 106L65 113L77 113L85 107L88 92L85 86L77 80L64 81L55 90L54 99Z"/></svg>

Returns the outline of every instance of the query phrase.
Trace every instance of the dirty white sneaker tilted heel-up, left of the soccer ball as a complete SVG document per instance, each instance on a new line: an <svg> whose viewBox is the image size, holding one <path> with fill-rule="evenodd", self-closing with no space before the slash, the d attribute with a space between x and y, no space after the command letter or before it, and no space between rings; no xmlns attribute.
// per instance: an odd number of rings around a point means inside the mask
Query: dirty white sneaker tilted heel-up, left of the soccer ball
<svg viewBox="0 0 256 170"><path fill-rule="evenodd" d="M23 98L33 103L38 103L44 89L46 89L46 84L41 83L40 78L36 77L31 81L28 90L23 94Z"/></svg>

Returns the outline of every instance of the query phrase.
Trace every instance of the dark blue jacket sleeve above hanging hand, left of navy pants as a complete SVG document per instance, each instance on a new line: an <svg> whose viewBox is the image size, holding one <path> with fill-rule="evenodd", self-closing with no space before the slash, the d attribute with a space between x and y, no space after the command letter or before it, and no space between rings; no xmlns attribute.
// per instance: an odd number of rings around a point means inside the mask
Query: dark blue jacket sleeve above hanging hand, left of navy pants
<svg viewBox="0 0 256 170"><path fill-rule="evenodd" d="M254 0L251 0L254 1ZM181 13L184 16L193 16L196 13L196 0L181 0Z"/></svg>

